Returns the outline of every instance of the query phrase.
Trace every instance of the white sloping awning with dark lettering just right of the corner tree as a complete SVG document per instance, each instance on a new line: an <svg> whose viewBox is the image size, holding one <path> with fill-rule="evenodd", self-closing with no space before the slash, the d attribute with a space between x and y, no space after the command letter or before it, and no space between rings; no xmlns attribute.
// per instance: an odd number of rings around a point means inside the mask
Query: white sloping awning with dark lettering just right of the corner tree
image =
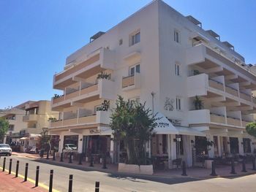
<svg viewBox="0 0 256 192"><path fill-rule="evenodd" d="M178 130L172 123L162 115L162 113L158 112L156 117L157 126L154 128L156 134L178 134Z"/></svg>

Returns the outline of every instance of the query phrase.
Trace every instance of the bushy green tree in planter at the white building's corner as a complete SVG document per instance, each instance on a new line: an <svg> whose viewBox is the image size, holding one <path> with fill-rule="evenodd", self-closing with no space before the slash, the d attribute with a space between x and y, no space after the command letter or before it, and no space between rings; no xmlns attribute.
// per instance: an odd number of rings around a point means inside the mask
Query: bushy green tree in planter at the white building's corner
<svg viewBox="0 0 256 192"><path fill-rule="evenodd" d="M155 116L146 109L145 103L124 101L118 96L116 108L110 116L110 128L120 141L124 140L128 164L146 164L146 142L154 134Z"/></svg>

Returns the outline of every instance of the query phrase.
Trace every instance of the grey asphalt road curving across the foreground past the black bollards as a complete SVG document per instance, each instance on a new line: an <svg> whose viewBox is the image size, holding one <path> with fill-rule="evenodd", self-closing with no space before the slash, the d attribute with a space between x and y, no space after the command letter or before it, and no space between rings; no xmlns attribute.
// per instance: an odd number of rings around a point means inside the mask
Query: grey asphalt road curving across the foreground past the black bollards
<svg viewBox="0 0 256 192"><path fill-rule="evenodd" d="M7 157L6 169L9 168ZM29 163L29 178L35 180L36 166L39 165L39 183L49 184L50 169L54 170L53 188L58 191L67 191L69 174L74 175L73 191L94 191L95 181L100 182L102 192L123 192L123 191L256 191L256 174L233 179L214 178L198 180L190 177L126 177L121 174L109 174L91 170L70 169L62 166L43 164L29 158L12 156L12 172L15 172L16 161L20 161L20 174L24 174L24 167ZM3 157L0 159L0 166L3 165ZM1 170L0 170L1 171Z"/></svg>

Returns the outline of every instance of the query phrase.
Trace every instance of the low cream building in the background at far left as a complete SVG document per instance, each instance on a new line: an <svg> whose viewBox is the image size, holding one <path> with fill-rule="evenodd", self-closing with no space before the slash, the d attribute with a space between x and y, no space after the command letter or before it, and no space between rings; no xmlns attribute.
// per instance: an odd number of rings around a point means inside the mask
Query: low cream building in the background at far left
<svg viewBox="0 0 256 192"><path fill-rule="evenodd" d="M17 142L21 151L36 145L42 128L49 127L49 118L59 118L59 112L52 111L50 101L26 101L11 109L3 110L0 115L10 123L4 142Z"/></svg>

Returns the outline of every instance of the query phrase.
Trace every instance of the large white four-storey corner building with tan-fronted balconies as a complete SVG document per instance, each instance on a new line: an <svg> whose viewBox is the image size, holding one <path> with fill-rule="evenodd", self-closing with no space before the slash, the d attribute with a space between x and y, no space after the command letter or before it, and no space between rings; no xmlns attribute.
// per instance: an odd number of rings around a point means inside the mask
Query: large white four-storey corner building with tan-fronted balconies
<svg viewBox="0 0 256 192"><path fill-rule="evenodd" d="M109 80L97 79L100 72L110 74ZM112 108L118 95L146 101L170 120L169 126L156 128L147 145L149 155L166 157L169 166L176 158L192 166L205 153L214 157L255 148L255 139L245 131L256 110L251 96L255 74L230 43L163 1L91 37L67 57L53 88L64 91L52 99L52 110L61 112L61 120L50 124L50 132L60 135L59 151L72 143L79 153L107 152L119 161L116 154L124 146L113 142L110 110L99 110L104 100ZM195 107L195 96L204 107ZM214 142L210 150L200 146L206 139Z"/></svg>

